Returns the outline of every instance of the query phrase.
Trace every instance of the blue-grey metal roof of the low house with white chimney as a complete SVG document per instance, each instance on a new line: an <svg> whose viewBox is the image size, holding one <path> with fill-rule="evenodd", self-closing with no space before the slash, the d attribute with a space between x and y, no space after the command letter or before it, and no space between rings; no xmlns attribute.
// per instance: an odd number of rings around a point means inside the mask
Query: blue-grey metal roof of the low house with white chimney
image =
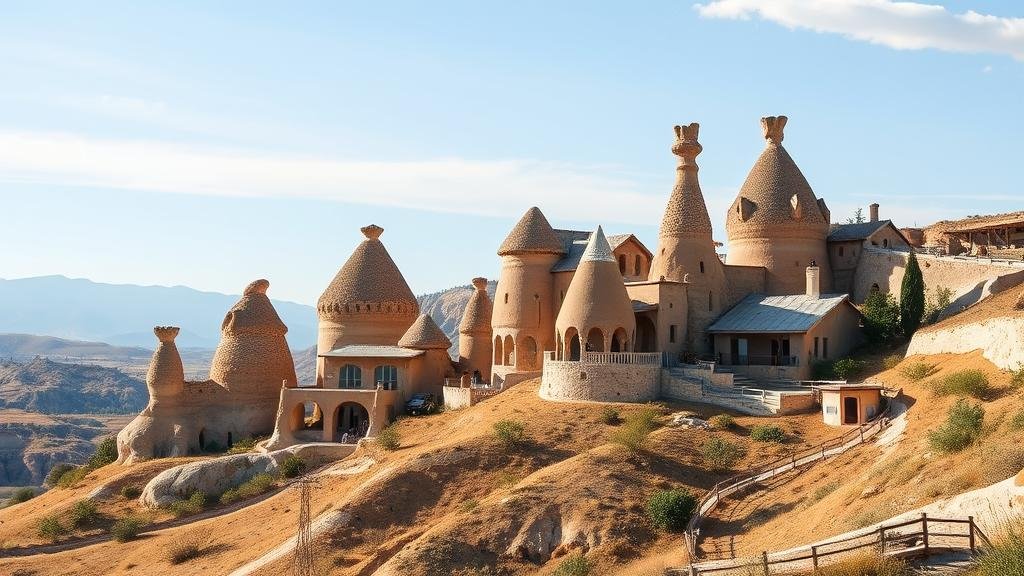
<svg viewBox="0 0 1024 576"><path fill-rule="evenodd" d="M846 294L765 296L751 294L722 315L709 332L807 332L836 307L849 304Z"/></svg>

